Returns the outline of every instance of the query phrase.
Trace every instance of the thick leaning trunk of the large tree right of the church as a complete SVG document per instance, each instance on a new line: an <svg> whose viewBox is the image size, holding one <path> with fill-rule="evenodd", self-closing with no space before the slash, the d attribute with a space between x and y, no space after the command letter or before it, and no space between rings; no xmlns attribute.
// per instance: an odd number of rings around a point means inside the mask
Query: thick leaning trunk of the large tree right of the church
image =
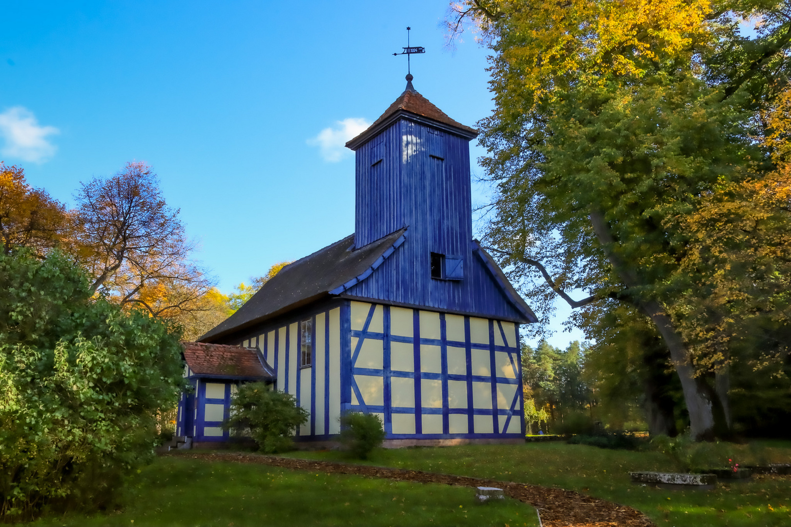
<svg viewBox="0 0 791 527"><path fill-rule="evenodd" d="M630 265L623 262L613 250L617 242L611 235L607 221L604 220L604 214L593 211L589 217L596 239L604 248L615 272L618 273L627 288L638 288L642 284L638 280L637 273ZM714 395L713 390L707 390L706 382L702 378L695 378L687 346L673 326L672 320L664 312L664 307L656 300L634 299L633 305L651 319L662 336L664 344L668 347L670 358L681 381L684 401L687 403L692 439L695 441L714 439L714 408L711 397Z"/></svg>

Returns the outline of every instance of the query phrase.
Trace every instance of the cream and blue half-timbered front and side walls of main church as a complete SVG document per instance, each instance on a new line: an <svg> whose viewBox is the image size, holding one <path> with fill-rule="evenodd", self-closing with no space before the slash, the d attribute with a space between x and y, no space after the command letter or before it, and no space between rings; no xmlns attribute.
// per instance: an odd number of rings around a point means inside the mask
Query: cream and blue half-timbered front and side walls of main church
<svg viewBox="0 0 791 527"><path fill-rule="evenodd" d="M338 434L344 410L380 415L390 439L522 435L513 322L355 301L309 317L311 367L299 365L307 314L242 342L310 412L298 438Z"/></svg>

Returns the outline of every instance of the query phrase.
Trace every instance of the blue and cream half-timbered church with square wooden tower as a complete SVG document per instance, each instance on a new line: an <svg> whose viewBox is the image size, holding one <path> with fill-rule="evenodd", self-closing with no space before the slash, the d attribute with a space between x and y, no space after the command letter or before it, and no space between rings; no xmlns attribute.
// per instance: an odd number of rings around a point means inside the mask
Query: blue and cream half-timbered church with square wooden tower
<svg viewBox="0 0 791 527"><path fill-rule="evenodd" d="M286 265L199 339L255 350L259 375L310 412L297 441L335 439L346 411L381 416L386 446L524 437L519 326L536 315L472 237L477 131L411 81L346 143L354 234ZM194 397L201 442L207 396Z"/></svg>

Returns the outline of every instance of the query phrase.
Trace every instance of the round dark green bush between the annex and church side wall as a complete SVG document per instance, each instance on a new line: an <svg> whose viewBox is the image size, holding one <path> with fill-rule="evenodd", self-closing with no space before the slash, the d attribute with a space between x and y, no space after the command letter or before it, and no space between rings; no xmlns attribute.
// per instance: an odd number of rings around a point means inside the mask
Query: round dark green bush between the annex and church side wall
<svg viewBox="0 0 791 527"><path fill-rule="evenodd" d="M294 431L310 415L305 408L297 406L293 395L272 390L263 382L240 386L230 414L225 428L237 437L251 437L267 454L291 450Z"/></svg>

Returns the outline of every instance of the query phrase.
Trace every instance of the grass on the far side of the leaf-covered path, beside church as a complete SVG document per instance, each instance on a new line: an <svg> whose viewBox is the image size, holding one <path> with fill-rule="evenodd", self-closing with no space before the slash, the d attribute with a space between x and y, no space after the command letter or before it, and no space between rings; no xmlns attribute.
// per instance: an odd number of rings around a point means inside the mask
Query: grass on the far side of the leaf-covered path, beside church
<svg viewBox="0 0 791 527"><path fill-rule="evenodd" d="M791 461L791 442L766 442L771 462ZM734 454L747 455L746 446ZM294 457L349 461L339 452L298 452ZM664 454L604 450L563 442L467 445L376 450L370 465L445 472L562 487L641 510L657 525L769 527L791 525L791 476L753 476L719 483L713 491L672 491L630 483L629 472L672 471Z"/></svg>

